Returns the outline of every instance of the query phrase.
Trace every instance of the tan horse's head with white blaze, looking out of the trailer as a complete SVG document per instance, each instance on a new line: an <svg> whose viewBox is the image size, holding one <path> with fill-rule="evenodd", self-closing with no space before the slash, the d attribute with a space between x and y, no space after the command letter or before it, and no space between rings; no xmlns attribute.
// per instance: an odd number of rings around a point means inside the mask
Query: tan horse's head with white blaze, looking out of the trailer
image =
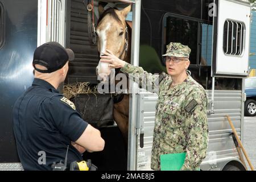
<svg viewBox="0 0 256 182"><path fill-rule="evenodd" d="M104 55L106 49L109 49L115 56L123 59L124 49L126 46L126 16L131 10L131 6L127 6L123 10L107 9L105 11L102 7L99 7L100 18L98 19L98 26L96 29L98 35L98 52L100 55ZM114 69L109 68L108 63L98 63L96 68L97 75L99 75L103 81L106 81L106 77L110 73L114 74Z"/></svg>

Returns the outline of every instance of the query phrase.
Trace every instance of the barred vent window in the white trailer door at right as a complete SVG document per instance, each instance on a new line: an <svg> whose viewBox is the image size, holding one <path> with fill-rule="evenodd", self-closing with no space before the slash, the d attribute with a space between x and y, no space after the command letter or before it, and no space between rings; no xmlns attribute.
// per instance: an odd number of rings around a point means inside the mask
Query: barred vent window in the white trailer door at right
<svg viewBox="0 0 256 182"><path fill-rule="evenodd" d="M234 20L225 21L223 36L223 51L225 55L242 55L244 35L244 23Z"/></svg>

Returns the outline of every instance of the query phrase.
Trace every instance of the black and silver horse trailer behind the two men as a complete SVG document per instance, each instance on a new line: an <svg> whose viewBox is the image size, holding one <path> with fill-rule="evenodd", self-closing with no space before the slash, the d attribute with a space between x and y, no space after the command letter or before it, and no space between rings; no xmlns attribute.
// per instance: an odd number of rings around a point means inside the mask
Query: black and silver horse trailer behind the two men
<svg viewBox="0 0 256 182"><path fill-rule="evenodd" d="M105 9L132 6L127 17L132 24L131 64L147 72L166 71L161 55L169 42L180 42L192 49L188 70L207 90L210 101L209 146L200 168L245 170L226 119L229 115L243 142L251 7L238 0L0 0L0 170L22 169L12 109L32 83L31 62L37 46L56 41L73 49L76 58L69 63L65 84L97 85L99 56L93 23L97 26L99 3ZM84 154L84 159L92 159L99 170L150 169L158 96L135 82L131 88L127 144L113 122L99 128L106 142L104 151ZM59 90L63 91L63 85ZM105 107L109 108L113 109Z"/></svg>

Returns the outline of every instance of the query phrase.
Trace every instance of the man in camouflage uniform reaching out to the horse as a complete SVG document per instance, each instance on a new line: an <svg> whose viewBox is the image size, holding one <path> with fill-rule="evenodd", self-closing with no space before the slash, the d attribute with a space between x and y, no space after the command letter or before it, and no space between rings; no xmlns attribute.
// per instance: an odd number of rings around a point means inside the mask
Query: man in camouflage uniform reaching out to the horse
<svg viewBox="0 0 256 182"><path fill-rule="evenodd" d="M160 155L186 152L181 170L199 170L206 156L208 146L207 105L204 88L188 74L191 49L181 43L167 46L167 73L159 84L159 97L156 104L155 127L151 154L151 168L160 170ZM110 68L121 68L133 77L147 78L154 85L159 76L147 73L114 56L111 51L101 56L101 61ZM137 75L137 76L136 76ZM135 79L138 81L139 79Z"/></svg>

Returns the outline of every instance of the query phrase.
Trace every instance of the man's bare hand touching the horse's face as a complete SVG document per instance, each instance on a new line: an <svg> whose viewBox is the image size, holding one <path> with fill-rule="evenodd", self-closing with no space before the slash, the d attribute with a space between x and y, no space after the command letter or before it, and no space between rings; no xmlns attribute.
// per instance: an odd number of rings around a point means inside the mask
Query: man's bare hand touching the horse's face
<svg viewBox="0 0 256 182"><path fill-rule="evenodd" d="M114 55L112 51L108 49L106 49L104 55L101 56L100 61L104 63L109 63L110 68L123 68L126 64L125 61L119 59L117 56Z"/></svg>

